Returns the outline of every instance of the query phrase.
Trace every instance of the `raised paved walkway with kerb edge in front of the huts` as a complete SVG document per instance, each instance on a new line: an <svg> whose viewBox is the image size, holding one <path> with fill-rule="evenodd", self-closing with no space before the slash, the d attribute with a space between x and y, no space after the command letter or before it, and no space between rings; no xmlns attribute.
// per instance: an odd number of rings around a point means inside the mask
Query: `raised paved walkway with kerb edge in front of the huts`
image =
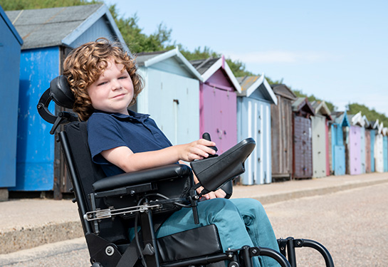
<svg viewBox="0 0 388 267"><path fill-rule="evenodd" d="M263 204L330 194L388 182L387 173L325 177L234 187L234 197ZM70 200L19 199L0 202L0 254L83 236L76 204Z"/></svg>

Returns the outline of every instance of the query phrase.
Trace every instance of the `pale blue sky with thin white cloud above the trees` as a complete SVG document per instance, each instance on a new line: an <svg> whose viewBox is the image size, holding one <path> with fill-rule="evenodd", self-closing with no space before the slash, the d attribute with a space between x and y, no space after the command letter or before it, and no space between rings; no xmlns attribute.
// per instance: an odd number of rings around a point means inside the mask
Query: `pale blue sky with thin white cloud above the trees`
<svg viewBox="0 0 388 267"><path fill-rule="evenodd" d="M338 110L360 103L388 116L388 1L107 0L159 23L190 51L207 46Z"/></svg>

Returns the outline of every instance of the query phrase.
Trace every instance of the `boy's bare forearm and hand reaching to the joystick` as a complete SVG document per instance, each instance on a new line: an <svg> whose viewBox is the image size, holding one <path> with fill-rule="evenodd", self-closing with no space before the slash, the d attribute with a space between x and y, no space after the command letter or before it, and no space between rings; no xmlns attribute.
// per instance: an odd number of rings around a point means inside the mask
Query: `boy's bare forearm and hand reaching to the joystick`
<svg viewBox="0 0 388 267"><path fill-rule="evenodd" d="M214 142L200 139L184 145L174 145L162 150L133 153L129 147L115 147L101 152L101 155L120 167L125 172L135 172L142 169L173 164L179 160L192 162L194 159L203 159L216 152L210 147Z"/></svg>

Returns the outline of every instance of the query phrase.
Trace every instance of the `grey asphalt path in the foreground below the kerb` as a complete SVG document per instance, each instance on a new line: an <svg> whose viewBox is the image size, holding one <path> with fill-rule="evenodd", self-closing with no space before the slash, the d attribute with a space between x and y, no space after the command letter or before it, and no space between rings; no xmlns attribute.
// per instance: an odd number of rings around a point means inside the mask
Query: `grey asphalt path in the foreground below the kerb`
<svg viewBox="0 0 388 267"><path fill-rule="evenodd" d="M313 239L332 254L335 266L388 266L388 183L317 197L266 204L278 238ZM298 266L325 266L312 248L297 248ZM0 266L88 267L84 239L46 244L0 255Z"/></svg>

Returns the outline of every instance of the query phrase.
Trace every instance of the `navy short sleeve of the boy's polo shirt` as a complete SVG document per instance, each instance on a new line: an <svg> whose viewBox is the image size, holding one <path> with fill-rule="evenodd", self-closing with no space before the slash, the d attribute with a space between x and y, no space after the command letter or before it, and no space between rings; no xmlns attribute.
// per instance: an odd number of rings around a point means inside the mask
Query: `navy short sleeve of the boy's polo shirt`
<svg viewBox="0 0 388 267"><path fill-rule="evenodd" d="M109 164L100 152L126 146L117 123L109 115L95 113L88 120L88 144L93 162Z"/></svg>

